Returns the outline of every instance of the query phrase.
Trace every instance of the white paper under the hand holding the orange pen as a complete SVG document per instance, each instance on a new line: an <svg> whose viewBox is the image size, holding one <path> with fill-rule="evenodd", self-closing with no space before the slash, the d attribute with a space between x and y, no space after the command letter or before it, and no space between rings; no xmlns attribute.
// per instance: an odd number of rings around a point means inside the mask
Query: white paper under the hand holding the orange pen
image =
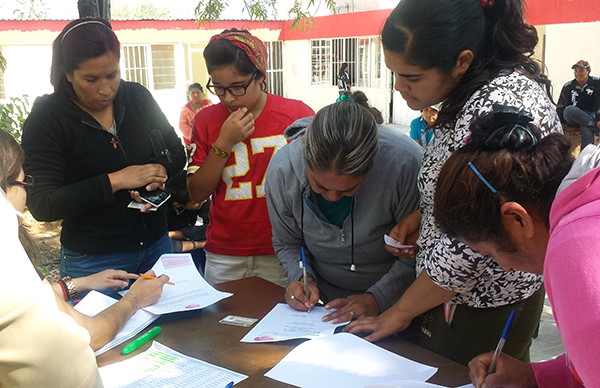
<svg viewBox="0 0 600 388"><path fill-rule="evenodd" d="M156 276L168 275L170 281L174 283L165 284L158 302L144 307L144 310L153 314L198 310L233 295L229 292L217 291L208 284L200 276L189 253L162 255L152 270Z"/></svg>

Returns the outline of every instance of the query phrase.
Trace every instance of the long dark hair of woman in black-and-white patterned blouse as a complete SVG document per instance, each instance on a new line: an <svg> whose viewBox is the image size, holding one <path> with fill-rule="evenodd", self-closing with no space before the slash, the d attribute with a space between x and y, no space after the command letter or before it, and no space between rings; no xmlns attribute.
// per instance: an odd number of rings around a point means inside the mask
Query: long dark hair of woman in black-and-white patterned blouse
<svg viewBox="0 0 600 388"><path fill-rule="evenodd" d="M464 50L474 54L469 69L447 96L436 126L452 125L475 91L502 70L519 70L546 85L541 65L531 58L537 32L525 23L522 0L402 0L388 17L383 47L407 64L450 74Z"/></svg>

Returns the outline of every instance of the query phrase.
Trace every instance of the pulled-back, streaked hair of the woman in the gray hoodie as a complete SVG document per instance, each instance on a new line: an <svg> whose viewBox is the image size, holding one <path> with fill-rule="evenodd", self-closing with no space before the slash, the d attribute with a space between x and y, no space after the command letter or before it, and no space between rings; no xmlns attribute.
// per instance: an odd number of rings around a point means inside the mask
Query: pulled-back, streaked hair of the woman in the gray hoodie
<svg viewBox="0 0 600 388"><path fill-rule="evenodd" d="M379 131L373 115L348 100L319 110L305 136L304 160L313 171L363 176L379 152Z"/></svg>

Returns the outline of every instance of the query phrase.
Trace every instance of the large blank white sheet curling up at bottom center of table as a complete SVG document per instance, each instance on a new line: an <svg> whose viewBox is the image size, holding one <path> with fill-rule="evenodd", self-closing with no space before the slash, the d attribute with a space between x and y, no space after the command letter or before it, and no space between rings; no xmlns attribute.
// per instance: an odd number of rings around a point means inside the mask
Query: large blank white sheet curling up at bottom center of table
<svg viewBox="0 0 600 388"><path fill-rule="evenodd" d="M425 381L437 368L409 360L349 333L301 343L265 376L311 388L364 388Z"/></svg>

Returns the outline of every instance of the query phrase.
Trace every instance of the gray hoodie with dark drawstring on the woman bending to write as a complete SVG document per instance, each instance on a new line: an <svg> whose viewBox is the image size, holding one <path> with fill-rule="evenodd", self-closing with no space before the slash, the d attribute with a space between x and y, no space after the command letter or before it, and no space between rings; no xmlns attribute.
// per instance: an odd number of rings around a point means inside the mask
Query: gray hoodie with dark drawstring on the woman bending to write
<svg viewBox="0 0 600 388"><path fill-rule="evenodd" d="M298 262L304 244L308 273L323 300L370 292L383 312L415 280L414 262L389 253L383 235L418 208L422 149L408 136L380 126L379 154L354 195L352 215L339 228L319 211L306 177L304 130L298 129L308 122L297 121L286 130L286 136L295 139L273 156L267 170L265 189L275 253L292 283L302 277ZM350 271L353 222L356 270Z"/></svg>

